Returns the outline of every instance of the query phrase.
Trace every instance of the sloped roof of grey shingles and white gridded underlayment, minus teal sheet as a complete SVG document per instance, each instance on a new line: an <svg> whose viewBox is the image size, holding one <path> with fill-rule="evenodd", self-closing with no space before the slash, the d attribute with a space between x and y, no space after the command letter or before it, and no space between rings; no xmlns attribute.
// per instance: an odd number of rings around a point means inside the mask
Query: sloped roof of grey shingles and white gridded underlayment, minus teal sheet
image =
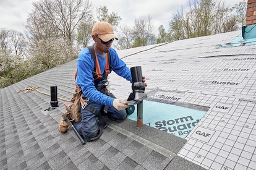
<svg viewBox="0 0 256 170"><path fill-rule="evenodd" d="M148 98L173 95L180 103L208 107L187 137L180 138L130 119L108 127L100 139L81 145L72 130L58 131L63 103L48 111L52 85L69 100L76 61L0 90L0 169L254 169L256 165L255 45L218 48L240 32L117 51L127 66L142 66ZM223 69L249 69L248 72ZM239 86L205 81L239 82ZM202 82L203 81L203 82ZM32 85L36 90L23 90ZM109 75L109 90L127 99L130 83ZM155 91L156 90L156 91ZM19 91L19 93L17 93ZM153 92L152 92L153 91ZM169 102L169 101L168 101ZM216 104L232 106L226 113ZM213 132L203 141L198 129Z"/></svg>

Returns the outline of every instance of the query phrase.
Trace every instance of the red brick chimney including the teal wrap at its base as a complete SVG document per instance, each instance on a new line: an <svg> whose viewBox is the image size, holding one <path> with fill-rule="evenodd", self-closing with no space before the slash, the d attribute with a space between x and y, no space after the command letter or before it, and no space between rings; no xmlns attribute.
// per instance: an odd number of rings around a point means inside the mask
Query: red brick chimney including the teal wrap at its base
<svg viewBox="0 0 256 170"><path fill-rule="evenodd" d="M242 26L242 38L244 40L256 38L256 0L247 1L246 23Z"/></svg>

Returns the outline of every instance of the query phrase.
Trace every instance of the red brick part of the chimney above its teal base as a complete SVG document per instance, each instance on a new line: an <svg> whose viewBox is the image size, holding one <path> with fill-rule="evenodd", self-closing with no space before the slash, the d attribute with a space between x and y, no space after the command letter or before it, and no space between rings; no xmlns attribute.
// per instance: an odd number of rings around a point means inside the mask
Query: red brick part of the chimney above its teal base
<svg viewBox="0 0 256 170"><path fill-rule="evenodd" d="M252 25L252 24L256 24L256 0L247 1L245 25Z"/></svg>

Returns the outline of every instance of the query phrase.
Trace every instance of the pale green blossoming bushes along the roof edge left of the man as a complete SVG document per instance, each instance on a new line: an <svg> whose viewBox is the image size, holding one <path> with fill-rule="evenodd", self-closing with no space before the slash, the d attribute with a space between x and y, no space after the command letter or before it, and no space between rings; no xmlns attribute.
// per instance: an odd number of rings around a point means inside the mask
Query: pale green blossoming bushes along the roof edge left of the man
<svg viewBox="0 0 256 170"><path fill-rule="evenodd" d="M77 51L67 42L42 40L38 43L38 51L30 59L23 61L11 53L0 53L0 88L7 87L20 80L27 79L45 70L72 61L77 58Z"/></svg>

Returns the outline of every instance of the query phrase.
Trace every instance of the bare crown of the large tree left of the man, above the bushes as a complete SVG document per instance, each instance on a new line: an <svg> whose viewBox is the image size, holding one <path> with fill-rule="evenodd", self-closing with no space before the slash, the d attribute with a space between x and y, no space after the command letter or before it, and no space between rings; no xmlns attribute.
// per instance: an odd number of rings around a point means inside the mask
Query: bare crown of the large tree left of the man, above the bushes
<svg viewBox="0 0 256 170"><path fill-rule="evenodd" d="M80 20L92 12L92 4L86 0L44 0L33 2L33 11L27 20L30 38L46 40L60 36L70 42Z"/></svg>

